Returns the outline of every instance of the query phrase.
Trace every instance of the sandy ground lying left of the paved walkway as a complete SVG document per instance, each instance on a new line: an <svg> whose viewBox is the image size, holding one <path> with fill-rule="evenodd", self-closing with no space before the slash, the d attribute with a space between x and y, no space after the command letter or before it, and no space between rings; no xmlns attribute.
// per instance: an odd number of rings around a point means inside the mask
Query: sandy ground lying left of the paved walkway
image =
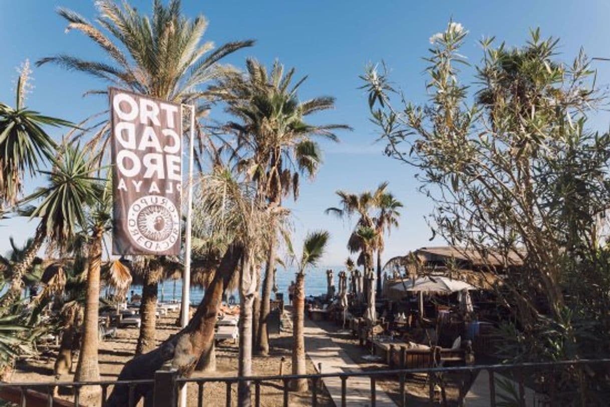
<svg viewBox="0 0 610 407"><path fill-rule="evenodd" d="M167 339L170 334L176 333L178 328L174 325L178 314L168 314L157 320L157 341L160 343ZM137 342L137 328L121 328L118 330L115 339L108 339L99 344L99 369L101 380L115 380L120 373L124 363L131 359L134 355L135 345ZM13 372L10 381L13 382L52 382L55 380L53 375L53 364L57 348L49 346L40 348L41 355L36 359L26 359L18 362L15 372ZM281 335L271 336L271 352L270 356L254 356L253 357L253 374L254 375L278 375L279 366L282 357L285 358L284 372L290 373L291 362L290 355L292 351L292 333L290 331L282 331ZM195 372L193 376L213 376L226 377L237 376L237 345L231 342L220 342L216 347L217 369L213 373ZM60 378L62 381L73 380L74 369L76 369L77 354L74 355L73 369L71 375L66 375ZM307 373L315 373L314 366L307 359ZM109 390L110 393L110 390ZM231 389L232 405L237 405L237 384L233 384ZM260 388L261 405L268 407L276 407L283 405L283 387L281 382L265 382ZM59 397L72 400L69 395L60 395ZM254 386L253 386L254 397ZM254 401L254 400L253 400ZM84 400L81 400L81 403ZM318 391L318 403L320 406L332 406L328 393L321 389ZM97 403L85 402L85 405L96 405ZM207 383L204 386L204 404L209 406L226 406L226 385L224 383ZM142 405L142 403L140 403ZM188 406L197 405L197 386L191 384L188 386ZM311 405L310 391L303 393L290 392L290 406L309 406Z"/></svg>

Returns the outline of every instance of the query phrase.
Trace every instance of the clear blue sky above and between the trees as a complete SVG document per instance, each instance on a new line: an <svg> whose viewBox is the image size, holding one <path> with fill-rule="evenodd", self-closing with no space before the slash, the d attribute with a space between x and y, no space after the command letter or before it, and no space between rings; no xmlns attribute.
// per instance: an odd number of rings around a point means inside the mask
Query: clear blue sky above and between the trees
<svg viewBox="0 0 610 407"><path fill-rule="evenodd" d="M152 0L131 0L149 13ZM405 205L400 229L387 240L385 258L414 248L442 244L429 242L431 232L424 216L431 203L417 192L414 170L382 156L383 145L375 143L376 129L368 121L367 99L359 90L358 75L367 62L386 60L392 79L413 101L426 98L423 70L428 38L442 31L447 21L462 23L470 31L463 53L470 62L481 58L477 40L495 35L508 45L520 45L529 27L540 27L543 35L561 37L562 58L570 60L581 46L590 56L610 57L610 2L598 1L202 1L183 0L184 13L205 15L209 20L207 40L220 44L254 38L256 46L229 57L243 67L246 56L269 65L279 58L298 73L309 75L301 99L319 95L337 98L337 109L312 118L317 123L346 123L353 132L340 135L341 143L324 143L325 164L314 182L303 184L301 196L290 203L295 224L295 245L310 229L324 228L332 240L324 264L341 264L348 255L345 244L351 230L343 222L323 214L337 203L334 191L359 192L389 181L389 190ZM16 67L26 58L60 52L90 59L102 59L91 41L77 32L64 33L65 22L54 9L65 6L90 20L95 16L88 0L0 0L0 100L13 104ZM610 83L610 62L599 62L598 82ZM101 82L80 73L66 72L47 65L34 69L35 88L27 105L47 115L79 121L106 108L105 96L82 98L89 88ZM218 112L212 112L212 115ZM607 112L600 112L593 123L607 129ZM60 137L60 133L54 133ZM31 191L40 180L29 181ZM0 252L9 248L9 236L23 242L33 236L35 224L23 219L3 220Z"/></svg>

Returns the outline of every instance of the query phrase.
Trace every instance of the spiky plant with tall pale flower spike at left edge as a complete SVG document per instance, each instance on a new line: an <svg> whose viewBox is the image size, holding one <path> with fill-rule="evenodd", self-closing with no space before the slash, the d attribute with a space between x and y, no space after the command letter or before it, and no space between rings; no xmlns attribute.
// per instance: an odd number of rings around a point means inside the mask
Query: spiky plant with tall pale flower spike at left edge
<svg viewBox="0 0 610 407"><path fill-rule="evenodd" d="M17 79L15 107L0 102L0 204L16 203L23 187L24 175L34 176L45 162L54 155L56 143L43 130L43 126L70 126L58 118L40 115L27 109L26 95L32 71L26 60ZM40 236L40 241L43 236ZM40 243L41 244L41 243ZM37 253L40 245L32 247ZM35 250L34 250L35 249ZM30 253L31 252L31 253ZM27 266L26 266L27 268Z"/></svg>

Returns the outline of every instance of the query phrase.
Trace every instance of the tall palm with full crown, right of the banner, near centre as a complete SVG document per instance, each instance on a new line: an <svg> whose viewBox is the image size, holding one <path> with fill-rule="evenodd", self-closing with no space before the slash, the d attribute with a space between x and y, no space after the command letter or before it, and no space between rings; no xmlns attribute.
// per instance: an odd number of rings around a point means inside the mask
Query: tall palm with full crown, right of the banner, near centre
<svg viewBox="0 0 610 407"><path fill-rule="evenodd" d="M314 137L338 141L335 131L343 124L315 125L305 120L312 113L334 108L330 96L300 101L298 90L306 77L292 83L295 68L287 72L276 60L268 71L255 59L246 60L246 74L233 74L217 82L210 92L227 103L227 111L239 121L227 128L237 135L234 158L239 168L257 183L257 195L268 206L281 206L282 198L298 197L300 176L313 178L321 164L321 150ZM270 312L273 269L277 257L280 220L267 248L267 263L256 337L257 351L269 351L267 319ZM258 290L257 290L258 292ZM256 308L256 307L255 307Z"/></svg>

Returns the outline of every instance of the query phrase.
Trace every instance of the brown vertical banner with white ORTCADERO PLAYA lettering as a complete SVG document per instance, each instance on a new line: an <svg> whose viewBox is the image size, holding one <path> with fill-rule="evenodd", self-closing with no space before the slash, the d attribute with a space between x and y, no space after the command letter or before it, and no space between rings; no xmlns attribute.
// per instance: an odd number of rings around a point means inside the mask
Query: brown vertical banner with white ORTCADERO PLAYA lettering
<svg viewBox="0 0 610 407"><path fill-rule="evenodd" d="M177 104L109 88L113 254L179 254L182 115Z"/></svg>

